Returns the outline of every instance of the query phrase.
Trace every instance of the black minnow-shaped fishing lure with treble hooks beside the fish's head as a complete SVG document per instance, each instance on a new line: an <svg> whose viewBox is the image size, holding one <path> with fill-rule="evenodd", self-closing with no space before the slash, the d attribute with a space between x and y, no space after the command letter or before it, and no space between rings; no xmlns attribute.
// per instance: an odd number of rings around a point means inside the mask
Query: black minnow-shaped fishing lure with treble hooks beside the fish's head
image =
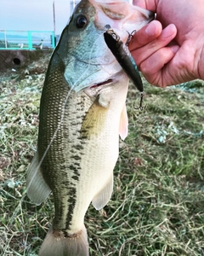
<svg viewBox="0 0 204 256"><path fill-rule="evenodd" d="M127 44L129 43L132 33L129 34L127 38ZM122 69L127 73L129 79L132 80L133 84L137 87L140 91L140 104L139 108L136 109L143 109L142 102L144 96L144 88L142 79L139 74L138 67L133 60L133 56L131 55L127 44L124 44L120 37L114 32L110 25L105 26L104 31L104 38L105 43L107 44L108 48L111 49L112 54L116 57L116 60L121 65Z"/></svg>

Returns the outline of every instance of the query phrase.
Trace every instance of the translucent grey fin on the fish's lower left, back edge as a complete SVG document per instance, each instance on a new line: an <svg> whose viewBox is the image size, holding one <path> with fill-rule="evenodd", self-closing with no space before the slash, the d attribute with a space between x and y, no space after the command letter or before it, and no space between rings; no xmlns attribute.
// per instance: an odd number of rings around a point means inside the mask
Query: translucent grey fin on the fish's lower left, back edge
<svg viewBox="0 0 204 256"><path fill-rule="evenodd" d="M26 187L28 197L37 205L40 205L42 201L45 201L51 192L51 189L48 187L48 184L42 176L37 153L28 170Z"/></svg>

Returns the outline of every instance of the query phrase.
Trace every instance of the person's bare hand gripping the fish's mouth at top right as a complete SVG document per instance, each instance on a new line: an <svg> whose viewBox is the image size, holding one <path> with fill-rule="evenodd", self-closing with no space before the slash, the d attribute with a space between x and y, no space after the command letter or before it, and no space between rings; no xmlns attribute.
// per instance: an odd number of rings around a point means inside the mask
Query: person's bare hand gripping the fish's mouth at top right
<svg viewBox="0 0 204 256"><path fill-rule="evenodd" d="M134 0L156 13L129 44L150 84L166 87L204 79L204 1Z"/></svg>

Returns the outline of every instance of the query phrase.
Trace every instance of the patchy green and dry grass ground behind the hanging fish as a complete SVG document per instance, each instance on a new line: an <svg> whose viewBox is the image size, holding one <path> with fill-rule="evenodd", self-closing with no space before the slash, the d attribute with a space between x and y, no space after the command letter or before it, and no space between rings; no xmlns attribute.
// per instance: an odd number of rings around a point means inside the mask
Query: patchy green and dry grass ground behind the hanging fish
<svg viewBox="0 0 204 256"><path fill-rule="evenodd" d="M0 77L3 256L37 255L54 217L52 196L39 207L26 196L46 60L33 62L29 75ZM128 91L129 135L120 142L111 201L86 214L90 255L204 255L204 83L144 86L144 111L133 108L132 84Z"/></svg>

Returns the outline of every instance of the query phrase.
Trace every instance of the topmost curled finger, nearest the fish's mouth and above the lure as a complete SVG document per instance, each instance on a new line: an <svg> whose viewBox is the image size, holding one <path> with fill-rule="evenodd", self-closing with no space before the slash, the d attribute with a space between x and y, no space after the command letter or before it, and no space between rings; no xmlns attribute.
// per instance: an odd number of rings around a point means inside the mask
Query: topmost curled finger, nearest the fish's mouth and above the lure
<svg viewBox="0 0 204 256"><path fill-rule="evenodd" d="M138 32L133 36L133 39L128 44L130 51L149 44L154 39L158 38L161 35L162 26L158 20L153 20L150 24L142 27Z"/></svg>

